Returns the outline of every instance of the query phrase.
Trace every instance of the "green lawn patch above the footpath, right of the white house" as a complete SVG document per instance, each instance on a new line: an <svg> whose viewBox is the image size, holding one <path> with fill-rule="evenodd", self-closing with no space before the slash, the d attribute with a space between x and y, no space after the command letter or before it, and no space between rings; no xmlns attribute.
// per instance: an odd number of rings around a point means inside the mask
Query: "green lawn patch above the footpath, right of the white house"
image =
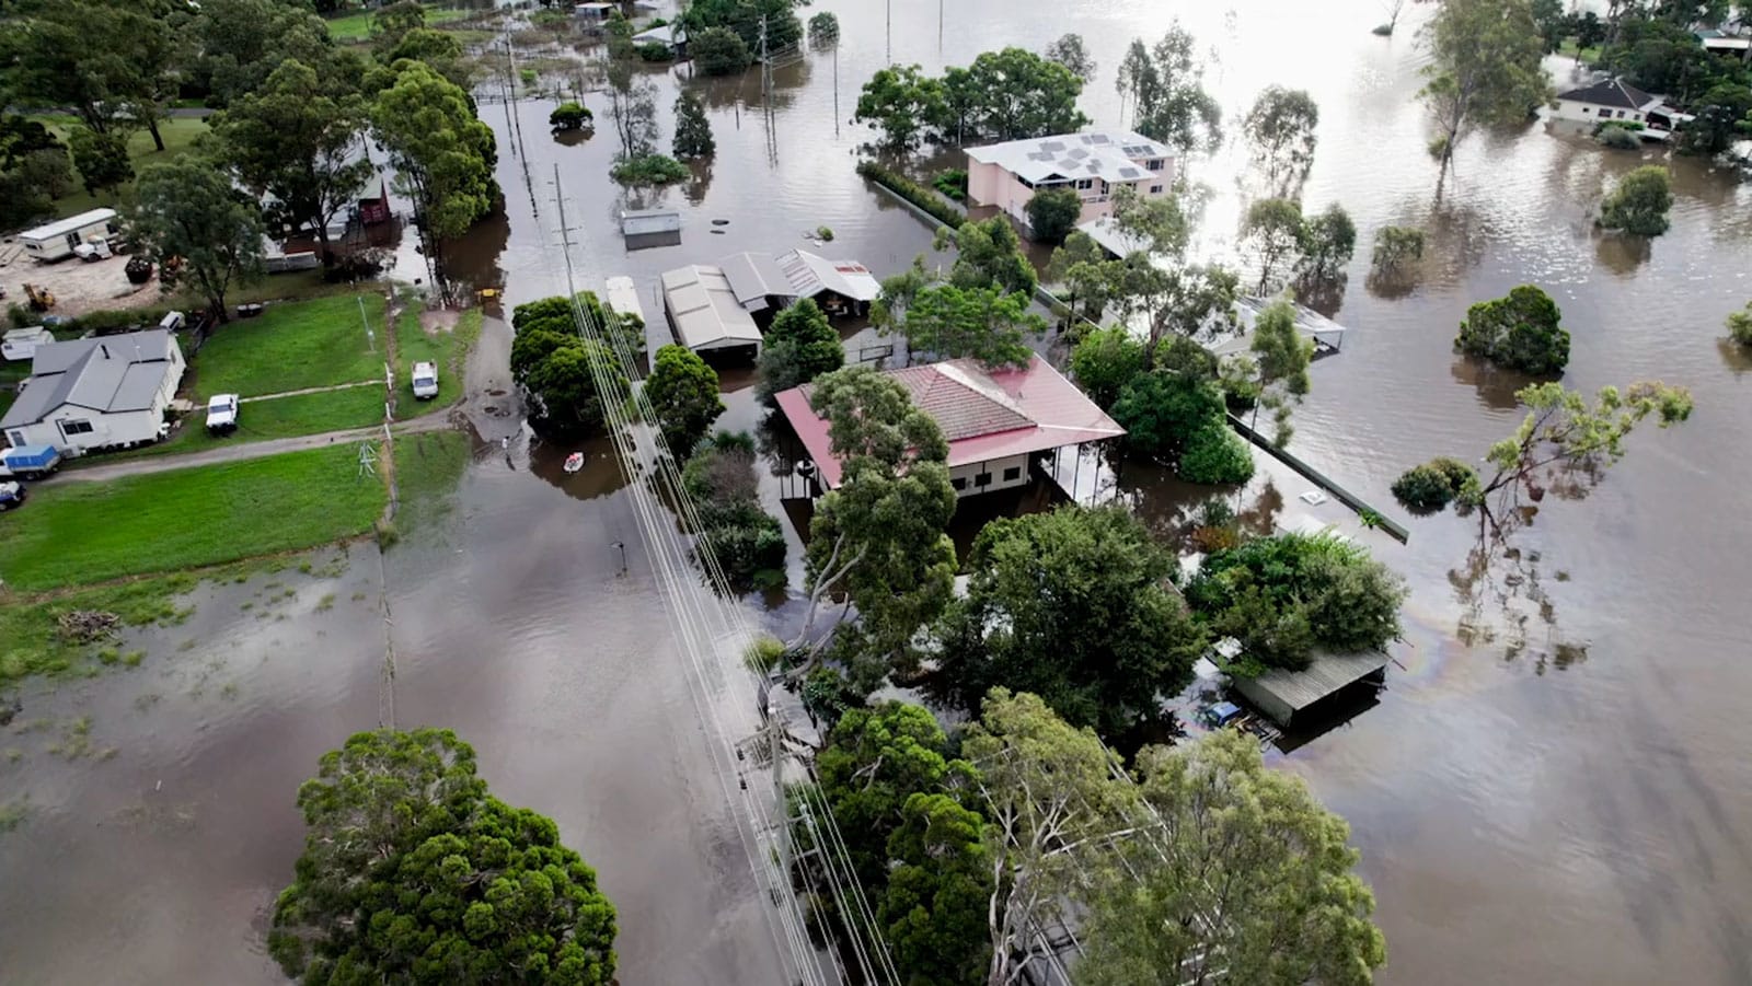
<svg viewBox="0 0 1752 986"><path fill-rule="evenodd" d="M201 398L242 394L259 398L307 387L357 384L384 377L384 299L364 296L364 310L378 336L377 352L366 342L354 296L268 305L254 319L221 326L194 357L194 385Z"/></svg>

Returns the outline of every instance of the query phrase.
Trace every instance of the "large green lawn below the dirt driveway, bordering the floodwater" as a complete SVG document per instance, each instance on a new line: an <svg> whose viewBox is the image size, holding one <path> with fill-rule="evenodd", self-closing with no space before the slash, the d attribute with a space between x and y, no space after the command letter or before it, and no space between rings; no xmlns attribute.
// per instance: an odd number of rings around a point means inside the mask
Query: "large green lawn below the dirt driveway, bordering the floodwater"
<svg viewBox="0 0 1752 986"><path fill-rule="evenodd" d="M352 538L384 510L352 443L130 476L51 482L4 517L0 578L40 592Z"/></svg>

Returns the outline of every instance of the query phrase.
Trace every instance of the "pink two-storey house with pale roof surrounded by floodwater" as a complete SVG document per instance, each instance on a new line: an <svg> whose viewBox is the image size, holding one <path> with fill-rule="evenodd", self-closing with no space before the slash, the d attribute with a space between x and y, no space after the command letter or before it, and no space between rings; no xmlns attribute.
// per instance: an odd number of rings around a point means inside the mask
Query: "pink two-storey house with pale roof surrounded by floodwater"
<svg viewBox="0 0 1752 986"><path fill-rule="evenodd" d="M1113 194L1121 186L1135 187L1141 196L1169 194L1174 152L1128 130L967 149L967 198L995 205L1021 222L1039 189L1074 189L1083 198L1079 222L1088 222L1113 214Z"/></svg>

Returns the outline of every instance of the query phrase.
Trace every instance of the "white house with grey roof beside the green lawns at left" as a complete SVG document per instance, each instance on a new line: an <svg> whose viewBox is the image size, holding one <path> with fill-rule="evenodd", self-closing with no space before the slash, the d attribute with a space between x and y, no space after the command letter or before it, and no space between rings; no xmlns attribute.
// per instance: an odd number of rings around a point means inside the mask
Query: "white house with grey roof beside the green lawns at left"
<svg viewBox="0 0 1752 986"><path fill-rule="evenodd" d="M158 441L186 368L163 329L42 343L0 433L12 447L63 454Z"/></svg>

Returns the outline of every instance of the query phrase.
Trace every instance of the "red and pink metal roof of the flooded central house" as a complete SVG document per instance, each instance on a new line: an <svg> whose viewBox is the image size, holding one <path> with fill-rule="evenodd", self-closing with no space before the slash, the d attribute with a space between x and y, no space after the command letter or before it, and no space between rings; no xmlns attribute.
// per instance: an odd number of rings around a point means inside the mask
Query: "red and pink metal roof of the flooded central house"
<svg viewBox="0 0 1752 986"><path fill-rule="evenodd" d="M950 466L965 466L1118 438L1125 429L1102 413L1083 391L1039 356L1028 366L986 370L974 359L890 370L943 429ZM809 385L778 394L797 438L820 468L829 489L839 485L839 461L830 452L827 422L809 406Z"/></svg>

